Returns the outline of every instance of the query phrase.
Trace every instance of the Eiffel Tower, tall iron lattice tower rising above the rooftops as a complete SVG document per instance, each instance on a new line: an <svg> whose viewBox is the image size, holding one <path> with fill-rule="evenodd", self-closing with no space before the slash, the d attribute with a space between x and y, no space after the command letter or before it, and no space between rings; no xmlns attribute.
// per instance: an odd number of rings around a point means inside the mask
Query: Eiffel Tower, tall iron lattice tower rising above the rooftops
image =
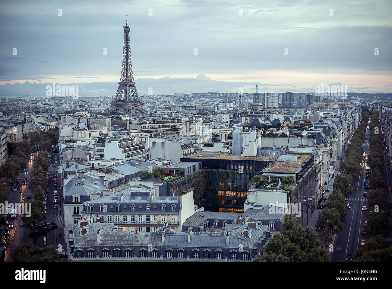
<svg viewBox="0 0 392 289"><path fill-rule="evenodd" d="M136 90L136 84L133 79L131 48L129 45L130 30L127 15L127 23L124 26L124 52L121 77L120 82L118 82L116 97L114 97L114 100L110 103L110 107L105 111L109 114L113 114L113 112L117 110L122 110L128 115L134 115L136 111L141 114L147 113L144 103L140 100L138 91Z"/></svg>

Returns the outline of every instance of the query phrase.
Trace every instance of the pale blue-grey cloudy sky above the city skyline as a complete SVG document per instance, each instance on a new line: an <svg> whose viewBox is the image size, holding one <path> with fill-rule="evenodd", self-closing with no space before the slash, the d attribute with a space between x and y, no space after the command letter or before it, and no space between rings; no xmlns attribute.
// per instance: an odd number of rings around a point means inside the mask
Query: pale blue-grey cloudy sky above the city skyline
<svg viewBox="0 0 392 289"><path fill-rule="evenodd" d="M390 0L2 2L0 96L45 96L47 83L115 94L125 15L141 95L333 83L390 92L391 12Z"/></svg>

